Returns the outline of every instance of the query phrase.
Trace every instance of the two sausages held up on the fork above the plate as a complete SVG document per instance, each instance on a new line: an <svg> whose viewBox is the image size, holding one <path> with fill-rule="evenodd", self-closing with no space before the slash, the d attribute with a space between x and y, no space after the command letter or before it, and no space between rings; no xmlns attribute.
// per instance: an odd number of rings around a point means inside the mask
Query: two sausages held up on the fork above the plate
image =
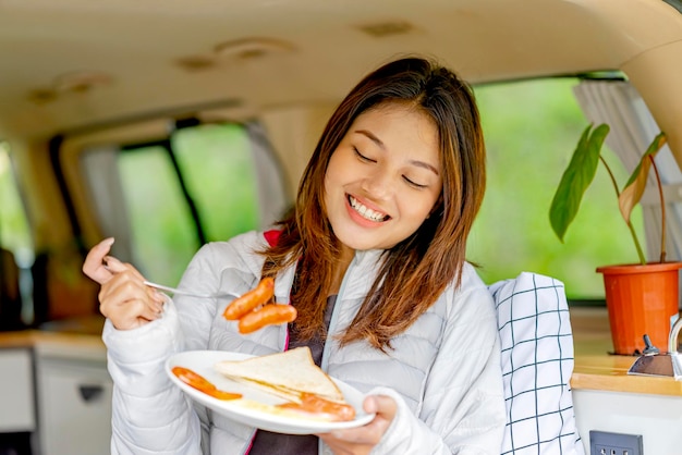
<svg viewBox="0 0 682 455"><path fill-rule="evenodd" d="M232 300L222 316L229 321L239 320L239 331L243 334L266 325L293 322L297 316L296 309L291 305L269 303L273 292L275 280L266 276L255 288Z"/></svg>

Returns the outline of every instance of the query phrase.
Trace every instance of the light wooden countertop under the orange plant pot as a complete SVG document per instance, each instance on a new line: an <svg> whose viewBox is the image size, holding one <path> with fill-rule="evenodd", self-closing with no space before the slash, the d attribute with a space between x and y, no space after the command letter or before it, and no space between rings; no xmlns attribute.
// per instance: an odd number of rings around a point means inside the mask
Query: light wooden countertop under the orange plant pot
<svg viewBox="0 0 682 455"><path fill-rule="evenodd" d="M613 351L606 308L571 308L575 366L573 390L677 395L682 381L672 378L629 376L635 356L617 356Z"/></svg>

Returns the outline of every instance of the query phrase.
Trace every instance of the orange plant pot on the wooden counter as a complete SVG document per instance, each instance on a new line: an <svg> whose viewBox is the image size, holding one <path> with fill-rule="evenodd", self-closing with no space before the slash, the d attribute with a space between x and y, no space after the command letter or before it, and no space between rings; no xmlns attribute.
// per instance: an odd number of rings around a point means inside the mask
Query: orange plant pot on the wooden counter
<svg viewBox="0 0 682 455"><path fill-rule="evenodd" d="M668 351L668 335L680 311L679 271L682 262L606 266L606 306L613 352L640 355L644 334L660 352Z"/></svg>

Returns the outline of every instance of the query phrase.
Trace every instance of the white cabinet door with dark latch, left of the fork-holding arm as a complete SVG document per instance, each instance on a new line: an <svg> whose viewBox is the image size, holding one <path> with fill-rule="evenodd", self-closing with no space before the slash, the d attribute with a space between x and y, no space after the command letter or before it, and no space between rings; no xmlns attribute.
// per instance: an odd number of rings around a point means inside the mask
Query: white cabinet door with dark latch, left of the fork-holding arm
<svg viewBox="0 0 682 455"><path fill-rule="evenodd" d="M37 358L39 453L107 455L112 383L103 364Z"/></svg>

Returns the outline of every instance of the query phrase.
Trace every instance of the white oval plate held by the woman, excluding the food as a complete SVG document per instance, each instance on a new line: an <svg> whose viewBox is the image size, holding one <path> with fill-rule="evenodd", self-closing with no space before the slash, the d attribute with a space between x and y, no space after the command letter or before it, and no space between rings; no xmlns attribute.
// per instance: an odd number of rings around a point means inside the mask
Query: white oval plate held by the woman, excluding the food
<svg viewBox="0 0 682 455"><path fill-rule="evenodd" d="M280 416L267 410L255 408L252 405L246 406L244 401L263 403L266 405L277 405L285 401L275 395L260 392L246 384L232 381L220 374L214 366L222 360L243 360L253 357L241 353L228 353L222 351L187 351L176 354L166 361L166 372L171 381L178 385L190 397L209 407L214 411L221 414L240 423L256 427L261 430L272 431L285 434L313 434L326 433L332 430L354 428L366 425L374 419L374 414L367 414L363 410L364 395L355 388L331 378L339 386L345 401L355 408L355 419L343 422L326 422L318 420L305 419L303 417ZM210 381L219 390L226 392L241 393L241 399L218 399L205 394L178 379L173 374L173 367L188 368L197 374L203 376Z"/></svg>

